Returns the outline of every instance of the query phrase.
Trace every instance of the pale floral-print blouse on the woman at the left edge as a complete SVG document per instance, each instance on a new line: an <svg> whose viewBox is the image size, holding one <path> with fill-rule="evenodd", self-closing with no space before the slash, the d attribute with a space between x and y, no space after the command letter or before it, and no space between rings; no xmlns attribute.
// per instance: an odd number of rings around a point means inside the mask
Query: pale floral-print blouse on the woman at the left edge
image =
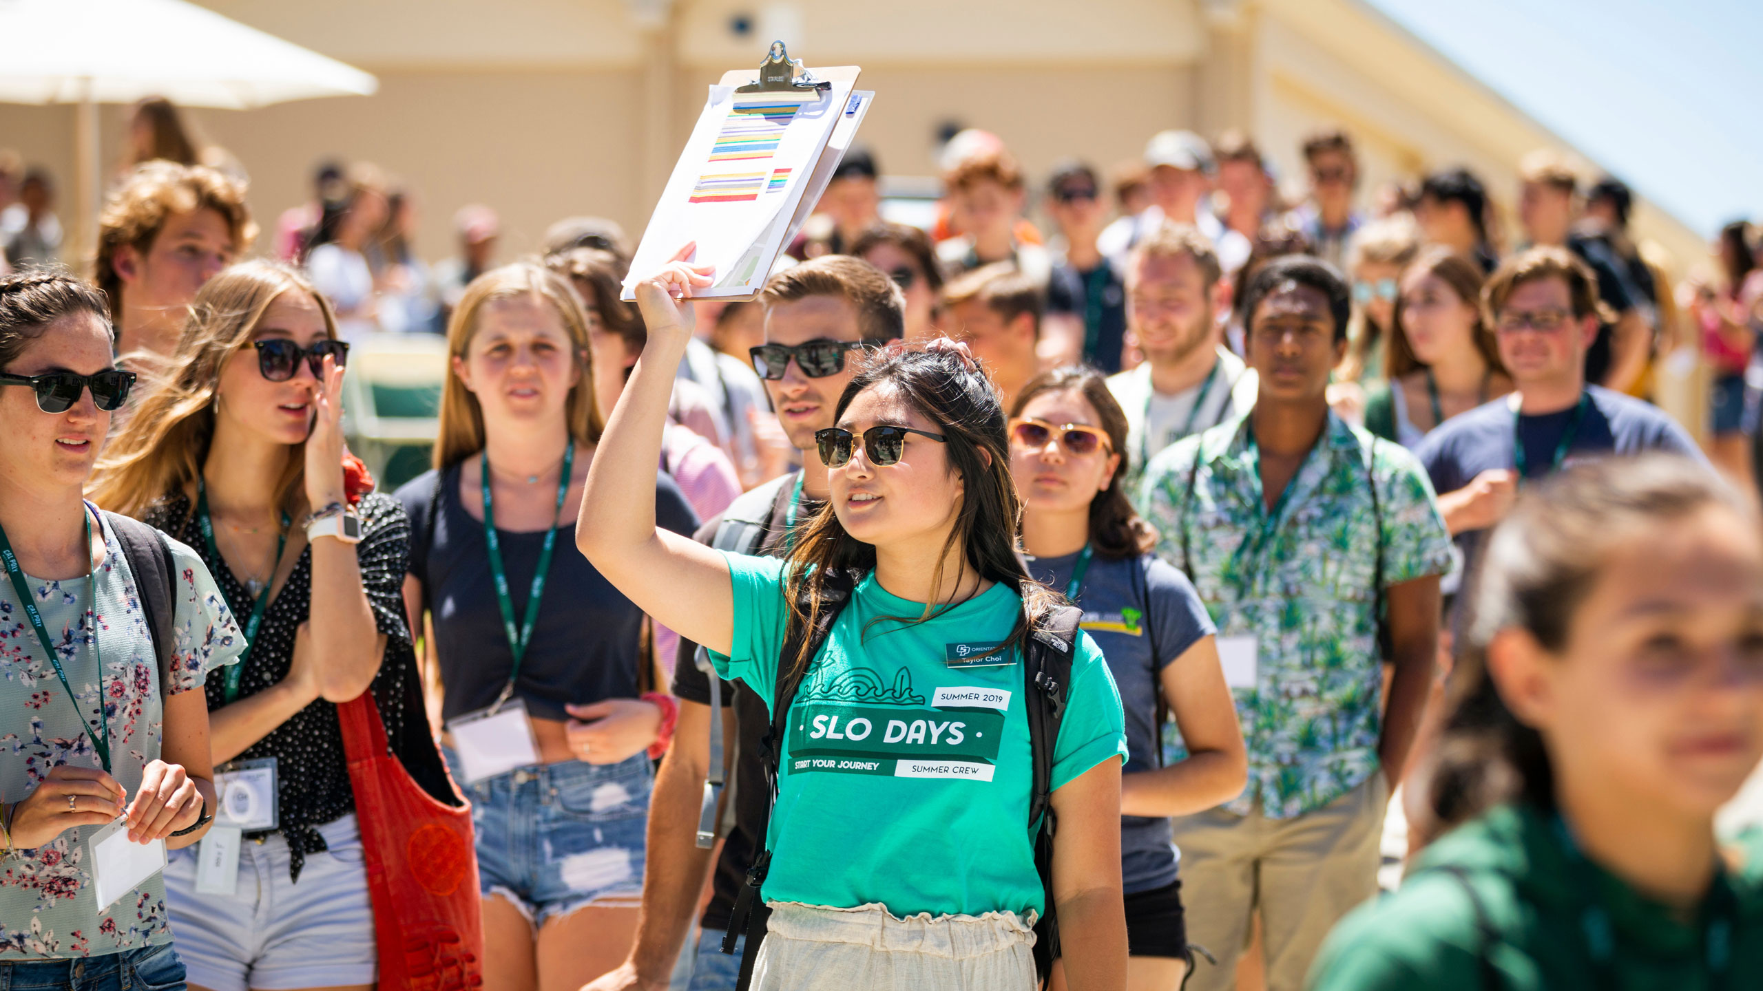
<svg viewBox="0 0 1763 991"><path fill-rule="evenodd" d="M245 637L196 552L171 541L171 555L176 647L173 684L166 691L178 695L201 688L217 667L234 663ZM26 575L25 580L76 698L69 702L12 582L0 575L0 797L7 802L25 799L58 764L102 767L79 725L81 718L102 725L97 714L102 704L109 721L111 774L132 801L143 771L159 760L166 709L159 659L122 545L106 522L97 608L85 575L60 582ZM0 963L99 956L171 942L162 875L99 910L86 841L100 829L69 829L35 850L14 850L0 859Z"/></svg>

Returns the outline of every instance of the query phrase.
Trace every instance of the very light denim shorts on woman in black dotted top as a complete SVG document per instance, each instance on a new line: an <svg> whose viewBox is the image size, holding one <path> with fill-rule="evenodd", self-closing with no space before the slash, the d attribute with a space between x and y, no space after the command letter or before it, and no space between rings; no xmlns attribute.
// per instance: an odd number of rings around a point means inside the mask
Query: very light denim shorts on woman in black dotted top
<svg viewBox="0 0 1763 991"><path fill-rule="evenodd" d="M196 892L196 846L166 862L171 938L189 982L212 991L291 991L374 984L374 906L354 813L324 823L330 846L289 880L287 841L247 839L231 896Z"/></svg>

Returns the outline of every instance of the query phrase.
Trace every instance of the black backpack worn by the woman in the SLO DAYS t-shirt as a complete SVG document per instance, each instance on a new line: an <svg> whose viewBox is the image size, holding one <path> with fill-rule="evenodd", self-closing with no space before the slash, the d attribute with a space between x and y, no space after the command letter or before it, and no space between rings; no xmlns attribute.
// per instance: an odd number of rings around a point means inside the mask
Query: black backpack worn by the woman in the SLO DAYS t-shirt
<svg viewBox="0 0 1763 991"><path fill-rule="evenodd" d="M783 651L777 652L777 689L772 700L772 719L765 730L760 758L765 762L765 783L770 788L770 804L777 806L777 771L783 758L785 728L790 719L790 707L795 691L802 684L806 672L795 670L795 658L806 642L807 658L820 652L832 624L850 603L855 580L846 575L839 582L829 582L825 600L815 628L792 624L785 638ZM1035 922L1035 973L1038 982L1047 980L1053 961L1060 957L1060 924L1053 901L1053 749L1060 739L1060 725L1065 718L1067 689L1072 679L1072 658L1077 651L1079 622L1082 610L1077 607L1060 607L1040 628L1030 628L1023 645L1023 698L1028 700L1028 741L1033 753L1033 785L1028 801L1028 829L1035 843L1035 873L1040 875L1045 912ZM714 723L716 719L712 719ZM762 845L753 864L748 868L746 887L735 901L733 915L728 920L728 933L723 936L723 952L735 952L735 942L742 929L748 935L746 952L740 959L740 979L737 991L748 991L753 980L753 965L758 959L760 943L765 940L765 920L770 910L760 901L760 887L770 869L770 848Z"/></svg>

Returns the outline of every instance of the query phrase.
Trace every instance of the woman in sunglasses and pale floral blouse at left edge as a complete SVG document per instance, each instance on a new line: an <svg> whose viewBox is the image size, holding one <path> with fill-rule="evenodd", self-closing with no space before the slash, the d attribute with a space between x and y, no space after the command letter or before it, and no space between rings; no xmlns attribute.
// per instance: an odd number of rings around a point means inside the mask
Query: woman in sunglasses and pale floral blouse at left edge
<svg viewBox="0 0 1763 991"><path fill-rule="evenodd" d="M152 615L152 578L118 533L129 520L81 497L134 384L115 344L92 286L65 272L0 279L0 973L11 987L183 987L164 882L155 873L100 905L95 850L115 850L100 829L118 816L127 832L115 843L134 853L203 838L215 792L208 709L192 689L243 649L182 543L164 541L169 628L167 612Z"/></svg>

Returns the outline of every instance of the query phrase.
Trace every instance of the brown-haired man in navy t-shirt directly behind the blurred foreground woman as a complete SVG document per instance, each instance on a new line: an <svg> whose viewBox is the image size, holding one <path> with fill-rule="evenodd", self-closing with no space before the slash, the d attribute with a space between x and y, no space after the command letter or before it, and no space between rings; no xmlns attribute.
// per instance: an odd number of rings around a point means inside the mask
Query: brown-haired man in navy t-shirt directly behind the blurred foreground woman
<svg viewBox="0 0 1763 991"><path fill-rule="evenodd" d="M1527 481L1588 457L1663 450L1705 460L1655 406L1585 381L1585 349L1604 310L1597 277L1573 252L1534 247L1507 257L1481 289L1481 307L1516 390L1446 420L1414 451L1470 568L1483 531L1506 518Z"/></svg>

